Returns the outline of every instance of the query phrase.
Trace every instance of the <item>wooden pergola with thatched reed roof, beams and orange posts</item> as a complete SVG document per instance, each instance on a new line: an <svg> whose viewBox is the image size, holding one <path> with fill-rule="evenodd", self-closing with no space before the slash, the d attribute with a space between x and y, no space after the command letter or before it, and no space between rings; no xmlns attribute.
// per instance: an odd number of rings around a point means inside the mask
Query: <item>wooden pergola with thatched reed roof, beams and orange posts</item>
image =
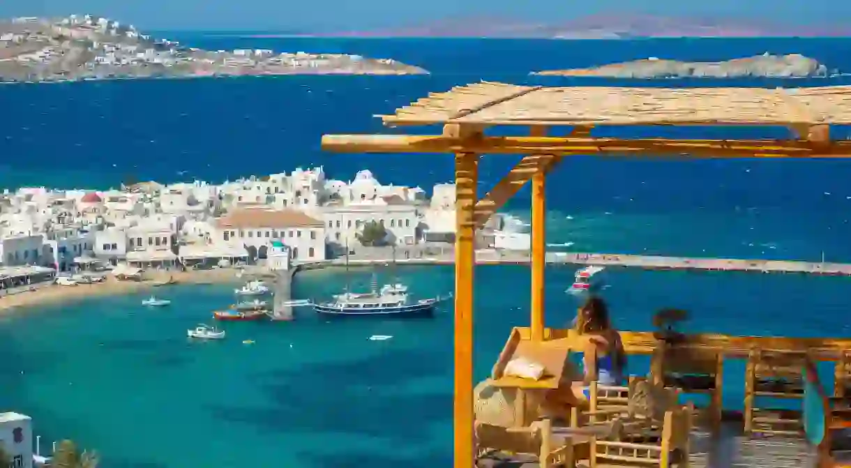
<svg viewBox="0 0 851 468"><path fill-rule="evenodd" d="M531 340L543 341L545 180L573 155L675 157L851 157L851 141L831 140L830 125L851 124L851 87L547 88L474 83L432 93L392 115L387 126L443 125L420 135L324 135L323 149L346 153L454 153L455 336L454 465L473 465L474 237L488 218L532 182ZM493 126L526 126L527 136L488 136ZM789 140L671 140L593 138L599 126L762 126L791 128ZM547 128L572 128L546 136ZM477 198L479 157L523 154L488 194Z"/></svg>

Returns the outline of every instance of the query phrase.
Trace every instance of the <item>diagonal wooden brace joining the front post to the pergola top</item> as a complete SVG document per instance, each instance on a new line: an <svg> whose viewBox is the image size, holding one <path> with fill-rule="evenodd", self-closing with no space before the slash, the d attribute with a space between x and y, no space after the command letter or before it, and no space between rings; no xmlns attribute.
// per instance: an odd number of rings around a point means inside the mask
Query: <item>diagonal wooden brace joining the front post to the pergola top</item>
<svg viewBox="0 0 851 468"><path fill-rule="evenodd" d="M573 129L571 134L577 137L586 137L590 133L591 128L577 127ZM540 137L544 134L533 134L532 136ZM562 157L547 154L531 154L523 157L505 177L494 185L493 190L488 191L488 195L476 203L476 227L482 229L494 213L505 206L505 203L508 203L511 197L517 195L517 192L523 188L523 185L526 185L526 182L532 180L534 174L538 174L540 171L545 174L549 173L561 160Z"/></svg>

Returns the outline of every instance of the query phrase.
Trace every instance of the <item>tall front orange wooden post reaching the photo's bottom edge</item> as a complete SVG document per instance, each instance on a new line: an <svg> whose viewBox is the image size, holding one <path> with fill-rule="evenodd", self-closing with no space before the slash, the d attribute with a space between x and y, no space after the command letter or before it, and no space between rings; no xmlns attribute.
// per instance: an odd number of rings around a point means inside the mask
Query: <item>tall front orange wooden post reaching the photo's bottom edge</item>
<svg viewBox="0 0 851 468"><path fill-rule="evenodd" d="M476 266L473 208L478 155L455 155L455 395L454 466L472 468L473 452L473 270Z"/></svg>

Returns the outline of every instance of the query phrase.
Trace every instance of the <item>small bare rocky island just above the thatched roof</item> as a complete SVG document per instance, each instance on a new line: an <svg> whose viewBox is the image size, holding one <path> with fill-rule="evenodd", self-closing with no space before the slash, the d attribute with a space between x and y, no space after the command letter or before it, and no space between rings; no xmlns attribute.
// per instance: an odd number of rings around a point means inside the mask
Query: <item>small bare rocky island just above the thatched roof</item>
<svg viewBox="0 0 851 468"><path fill-rule="evenodd" d="M533 71L533 75L560 77L610 78L737 78L737 77L825 77L827 67L801 54L762 54L722 62L683 62L644 60L615 63L591 68Z"/></svg>

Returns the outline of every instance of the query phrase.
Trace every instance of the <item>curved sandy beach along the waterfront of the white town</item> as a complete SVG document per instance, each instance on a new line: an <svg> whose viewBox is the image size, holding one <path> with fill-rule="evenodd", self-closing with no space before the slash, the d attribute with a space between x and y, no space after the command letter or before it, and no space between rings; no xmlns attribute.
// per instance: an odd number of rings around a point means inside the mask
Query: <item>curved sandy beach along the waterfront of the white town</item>
<svg viewBox="0 0 851 468"><path fill-rule="evenodd" d="M155 290L157 283L168 281L169 277L174 278L174 281L178 284L238 284L247 281L247 277L256 276L256 271L248 269L242 278L237 277L237 270L225 268L194 271L146 271L143 281L140 282L118 281L115 277L108 276L104 283L77 284L77 286L38 285L35 291L22 291L17 294L0 296L0 313L37 305L83 300L94 296ZM164 286L164 288L168 288L168 286Z"/></svg>

